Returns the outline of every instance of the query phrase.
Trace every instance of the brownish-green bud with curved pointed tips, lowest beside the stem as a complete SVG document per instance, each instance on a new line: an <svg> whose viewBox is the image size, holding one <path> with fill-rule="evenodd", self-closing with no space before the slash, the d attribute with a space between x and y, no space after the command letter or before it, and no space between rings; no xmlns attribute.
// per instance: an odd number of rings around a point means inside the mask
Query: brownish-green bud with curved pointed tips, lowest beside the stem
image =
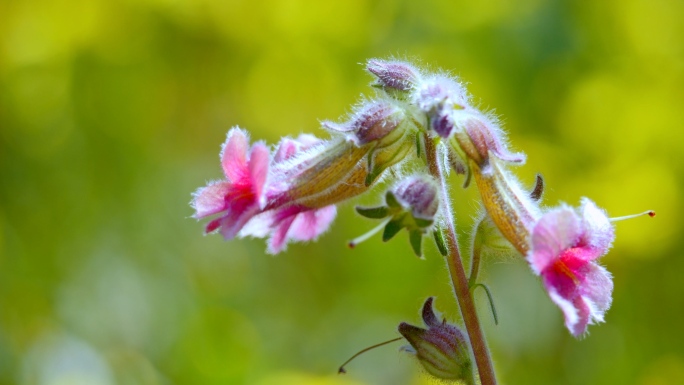
<svg viewBox="0 0 684 385"><path fill-rule="evenodd" d="M454 325L439 321L430 297L423 305L423 321L427 329L402 322L399 333L411 344L404 350L415 354L431 375L443 380L460 380L473 384L470 349L463 332Z"/></svg>

